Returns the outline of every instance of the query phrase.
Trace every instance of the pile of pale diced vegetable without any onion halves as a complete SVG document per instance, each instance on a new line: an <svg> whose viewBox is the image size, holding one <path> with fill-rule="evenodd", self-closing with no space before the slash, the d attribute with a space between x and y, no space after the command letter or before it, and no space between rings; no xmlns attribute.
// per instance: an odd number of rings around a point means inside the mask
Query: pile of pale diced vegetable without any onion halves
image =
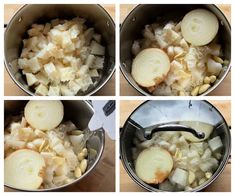
<svg viewBox="0 0 235 196"><path fill-rule="evenodd" d="M15 69L22 70L28 87L37 95L77 95L94 87L101 78L105 47L102 36L86 20L54 19L33 24L23 40ZM16 78L21 74L17 73Z"/></svg>

